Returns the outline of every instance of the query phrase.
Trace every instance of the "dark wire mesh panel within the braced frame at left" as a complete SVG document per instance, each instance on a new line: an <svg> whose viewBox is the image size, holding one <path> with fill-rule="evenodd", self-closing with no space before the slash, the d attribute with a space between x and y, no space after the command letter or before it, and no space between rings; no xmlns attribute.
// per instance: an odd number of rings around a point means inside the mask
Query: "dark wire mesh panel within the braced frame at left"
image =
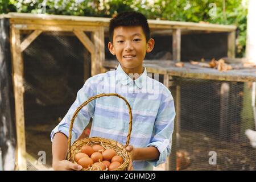
<svg viewBox="0 0 256 182"><path fill-rule="evenodd" d="M46 166L52 166L50 133L90 77L90 53L72 32L49 31L24 50L23 61L26 150L35 159L45 151Z"/></svg>

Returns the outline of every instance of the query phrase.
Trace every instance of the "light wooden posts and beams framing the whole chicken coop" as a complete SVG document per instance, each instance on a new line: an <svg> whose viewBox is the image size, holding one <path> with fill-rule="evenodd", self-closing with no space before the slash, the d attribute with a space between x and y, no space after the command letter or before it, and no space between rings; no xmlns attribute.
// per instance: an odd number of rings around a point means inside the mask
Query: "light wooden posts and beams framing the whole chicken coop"
<svg viewBox="0 0 256 182"><path fill-rule="evenodd" d="M46 31L73 32L90 52L92 61L92 76L105 72L106 68L115 68L116 63L105 61L104 30L109 26L110 18L82 17L82 16L64 16L64 15L42 15L42 14L24 14L9 13L1 15L2 18L10 19L11 31L11 54L13 65L13 84L15 98L15 117L17 134L17 165L18 169L26 170L26 140L24 130L24 101L23 101L23 60L22 52L40 35ZM180 61L181 33L200 31L200 32L228 32L228 56L234 57L236 38L236 26L226 26L220 24L174 22L167 20L148 20L151 30L166 32L173 36L173 55L174 60ZM20 42L20 31L33 31L23 42ZM92 32L92 38L89 39L84 31ZM156 67L155 63L147 67L151 73L164 75L164 85L169 88L170 78L172 76L197 77L198 74L182 71L168 70L162 67ZM204 78L209 78L204 75ZM212 77L214 78L214 77ZM179 90L177 90L179 92ZM179 93L177 93L179 94ZM179 111L177 112L179 115ZM178 116L177 116L178 117ZM177 118L177 121L180 119Z"/></svg>

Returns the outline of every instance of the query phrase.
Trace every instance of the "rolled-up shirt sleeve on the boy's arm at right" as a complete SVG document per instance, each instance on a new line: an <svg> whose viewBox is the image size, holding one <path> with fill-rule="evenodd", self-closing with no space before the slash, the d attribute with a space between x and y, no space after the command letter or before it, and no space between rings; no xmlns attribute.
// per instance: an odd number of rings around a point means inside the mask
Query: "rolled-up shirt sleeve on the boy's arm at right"
<svg viewBox="0 0 256 182"><path fill-rule="evenodd" d="M158 160L147 160L152 166L165 163L168 155L171 154L172 133L174 132L175 119L174 98L168 90L167 94L163 94L160 107L155 121L154 137L147 145L158 148L160 156Z"/></svg>

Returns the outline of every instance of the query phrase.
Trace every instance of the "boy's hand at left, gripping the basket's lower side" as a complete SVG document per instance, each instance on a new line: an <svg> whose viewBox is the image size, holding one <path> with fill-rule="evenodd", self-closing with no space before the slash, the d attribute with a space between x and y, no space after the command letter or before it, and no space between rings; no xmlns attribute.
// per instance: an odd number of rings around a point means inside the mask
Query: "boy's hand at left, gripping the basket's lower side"
<svg viewBox="0 0 256 182"><path fill-rule="evenodd" d="M82 166L69 162L68 160L60 160L59 162L52 164L52 168L55 171L80 171Z"/></svg>

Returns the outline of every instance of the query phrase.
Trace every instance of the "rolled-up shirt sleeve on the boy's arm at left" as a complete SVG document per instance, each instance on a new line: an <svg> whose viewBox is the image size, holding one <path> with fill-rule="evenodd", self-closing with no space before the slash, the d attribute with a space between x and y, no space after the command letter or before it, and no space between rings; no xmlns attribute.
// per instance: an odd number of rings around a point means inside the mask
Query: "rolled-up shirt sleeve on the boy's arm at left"
<svg viewBox="0 0 256 182"><path fill-rule="evenodd" d="M77 92L76 100L69 108L65 117L60 121L60 123L55 127L55 129L52 130L51 141L53 140L54 135L58 132L65 134L67 137L69 136L70 122L77 107L79 107L83 102L88 100L88 98L95 95L96 89L93 88L92 81L89 78L88 80L86 80L82 88ZM82 131L88 125L90 118L93 117L94 109L95 100L90 101L86 106L82 107L82 109L77 114L77 117L73 123L71 144L73 144L73 142L75 142L75 140L79 138Z"/></svg>

